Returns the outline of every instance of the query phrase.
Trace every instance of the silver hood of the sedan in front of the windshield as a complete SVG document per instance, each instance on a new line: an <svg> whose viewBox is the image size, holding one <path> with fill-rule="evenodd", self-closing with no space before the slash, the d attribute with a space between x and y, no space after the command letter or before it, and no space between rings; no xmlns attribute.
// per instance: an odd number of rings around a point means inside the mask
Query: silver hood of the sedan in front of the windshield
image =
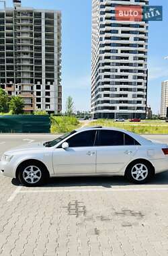
<svg viewBox="0 0 168 256"><path fill-rule="evenodd" d="M22 146L18 146L16 148L11 148L11 150L8 150L7 152L5 152L5 154L14 154L20 151L26 151L26 150L39 150L40 148L44 149L44 141L42 142L35 142L35 143L28 143L28 144L24 144Z"/></svg>

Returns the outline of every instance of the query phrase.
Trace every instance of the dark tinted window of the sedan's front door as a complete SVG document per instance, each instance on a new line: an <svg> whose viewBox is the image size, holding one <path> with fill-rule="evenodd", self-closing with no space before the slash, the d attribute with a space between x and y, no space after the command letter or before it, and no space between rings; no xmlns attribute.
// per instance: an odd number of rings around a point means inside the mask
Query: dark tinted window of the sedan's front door
<svg viewBox="0 0 168 256"><path fill-rule="evenodd" d="M95 131L83 131L67 139L70 148L91 147L94 145Z"/></svg>

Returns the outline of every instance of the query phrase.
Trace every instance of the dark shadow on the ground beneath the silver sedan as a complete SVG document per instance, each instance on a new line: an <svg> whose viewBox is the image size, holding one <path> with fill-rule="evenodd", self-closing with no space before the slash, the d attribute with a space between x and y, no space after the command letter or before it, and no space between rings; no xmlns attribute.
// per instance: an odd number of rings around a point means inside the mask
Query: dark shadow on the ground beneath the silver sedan
<svg viewBox="0 0 168 256"><path fill-rule="evenodd" d="M11 183L19 185L17 179L12 179ZM124 177L54 177L50 178L43 187L105 187L132 186ZM156 174L146 185L168 185L168 171Z"/></svg>

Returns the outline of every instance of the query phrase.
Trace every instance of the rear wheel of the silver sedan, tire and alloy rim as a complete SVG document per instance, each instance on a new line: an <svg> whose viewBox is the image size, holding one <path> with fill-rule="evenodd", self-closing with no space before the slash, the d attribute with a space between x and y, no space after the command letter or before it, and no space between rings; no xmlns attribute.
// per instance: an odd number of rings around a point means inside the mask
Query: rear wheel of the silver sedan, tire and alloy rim
<svg viewBox="0 0 168 256"><path fill-rule="evenodd" d="M125 177L131 183L144 184L148 182L155 174L155 170L149 162L137 160L128 165Z"/></svg>

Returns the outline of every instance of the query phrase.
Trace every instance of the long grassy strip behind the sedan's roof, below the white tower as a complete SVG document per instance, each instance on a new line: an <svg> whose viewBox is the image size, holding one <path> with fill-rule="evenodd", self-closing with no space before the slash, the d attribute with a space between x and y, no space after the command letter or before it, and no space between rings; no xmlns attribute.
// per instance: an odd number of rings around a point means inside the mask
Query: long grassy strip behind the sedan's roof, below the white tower
<svg viewBox="0 0 168 256"><path fill-rule="evenodd" d="M138 134L168 134L168 123L153 121L153 123L118 123L112 120L97 119L88 124L89 126L101 125L104 127L117 127Z"/></svg>

